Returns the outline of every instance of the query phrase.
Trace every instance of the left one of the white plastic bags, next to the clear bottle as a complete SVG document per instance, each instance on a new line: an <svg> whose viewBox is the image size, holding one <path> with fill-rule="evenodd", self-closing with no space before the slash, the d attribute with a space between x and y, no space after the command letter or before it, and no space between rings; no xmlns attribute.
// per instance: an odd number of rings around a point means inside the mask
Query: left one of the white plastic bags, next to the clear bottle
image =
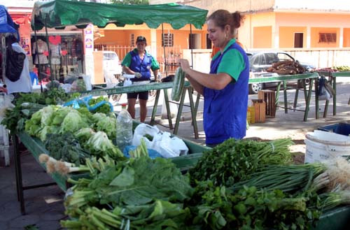
<svg viewBox="0 0 350 230"><path fill-rule="evenodd" d="M156 126L151 126L149 124L141 123L134 130L134 137L132 138L132 145L139 146L141 145L141 138L144 138L147 148L153 148L153 142L155 136L159 133L159 129ZM148 140L144 137L146 134L153 136L153 141Z"/></svg>

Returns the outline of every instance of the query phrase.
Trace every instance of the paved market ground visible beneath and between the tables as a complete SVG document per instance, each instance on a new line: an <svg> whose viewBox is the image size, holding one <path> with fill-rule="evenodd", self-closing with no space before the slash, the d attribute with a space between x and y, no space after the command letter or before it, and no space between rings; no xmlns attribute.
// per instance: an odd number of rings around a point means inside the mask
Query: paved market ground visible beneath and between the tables
<svg viewBox="0 0 350 230"><path fill-rule="evenodd" d="M265 140L273 140L276 138L290 137L297 143L293 150L295 152L304 152L304 134L307 131L317 129L317 127L326 124L338 122L350 122L350 106L347 104L350 96L350 82L339 82L337 85L337 115L332 116L332 103L328 109L328 117L316 120L314 111L314 100L311 99L311 107L309 119L303 122L302 112L293 112L289 110L288 114L284 110L277 110L276 117L267 119L265 123L252 124L247 131L248 138L261 138ZM288 101L293 101L293 91L288 92ZM250 99L256 98L251 95ZM283 97L280 98L283 101ZM289 103L289 104L290 104ZM320 102L320 106L324 105L324 101ZM149 102L148 114L151 115L153 102ZM202 103L201 103L202 106ZM201 108L200 106L200 108ZM302 108L304 103L299 101L298 106ZM321 107L322 108L322 107ZM118 106L116 107L118 109ZM166 120L160 120L161 106L159 106L157 120L158 122L167 123ZM190 113L188 108L184 109L183 122L179 127L179 136L195 141L196 143L204 143L204 132L202 127L202 113L197 114L198 129L200 138L195 139L193 135L193 127L188 120ZM201 111L201 110L200 110ZM149 117L148 117L149 120ZM158 126L160 127L160 126ZM164 127L160 129L167 130ZM22 173L24 185L34 185L37 183L51 182L43 168L36 163L29 152L23 152L21 155ZM24 192L25 208L27 215L20 214L20 205L17 200L15 187L15 166L13 157L9 167L3 167L3 158L0 158L0 230L19 230L26 226L35 224L40 230L60 229L59 220L65 218L63 197L64 193L57 186L42 187L30 189Z"/></svg>

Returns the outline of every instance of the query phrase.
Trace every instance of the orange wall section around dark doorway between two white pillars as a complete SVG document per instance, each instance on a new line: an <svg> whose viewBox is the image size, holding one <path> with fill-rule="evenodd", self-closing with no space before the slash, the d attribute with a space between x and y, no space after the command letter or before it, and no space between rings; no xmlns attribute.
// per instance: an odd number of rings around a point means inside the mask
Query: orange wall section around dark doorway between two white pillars
<svg viewBox="0 0 350 230"><path fill-rule="evenodd" d="M279 27L279 47L294 48L294 34L303 33L303 48L306 47L307 28L306 27Z"/></svg>

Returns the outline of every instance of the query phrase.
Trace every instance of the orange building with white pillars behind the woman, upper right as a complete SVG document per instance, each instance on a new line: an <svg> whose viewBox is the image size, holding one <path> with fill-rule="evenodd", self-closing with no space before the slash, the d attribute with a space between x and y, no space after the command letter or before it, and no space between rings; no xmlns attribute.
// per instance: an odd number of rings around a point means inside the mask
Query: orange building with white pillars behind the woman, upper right
<svg viewBox="0 0 350 230"><path fill-rule="evenodd" d="M151 4L167 3L150 0ZM190 6L246 16L239 41L253 48L350 48L350 2L344 0L181 0Z"/></svg>

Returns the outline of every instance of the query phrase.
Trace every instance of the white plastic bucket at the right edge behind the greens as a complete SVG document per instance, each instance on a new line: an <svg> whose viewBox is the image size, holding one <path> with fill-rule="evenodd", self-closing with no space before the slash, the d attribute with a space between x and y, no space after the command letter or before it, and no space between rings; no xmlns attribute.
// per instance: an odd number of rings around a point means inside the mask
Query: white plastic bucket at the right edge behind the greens
<svg viewBox="0 0 350 230"><path fill-rule="evenodd" d="M350 137L315 130L306 135L305 163L325 161L332 157L350 156Z"/></svg>

